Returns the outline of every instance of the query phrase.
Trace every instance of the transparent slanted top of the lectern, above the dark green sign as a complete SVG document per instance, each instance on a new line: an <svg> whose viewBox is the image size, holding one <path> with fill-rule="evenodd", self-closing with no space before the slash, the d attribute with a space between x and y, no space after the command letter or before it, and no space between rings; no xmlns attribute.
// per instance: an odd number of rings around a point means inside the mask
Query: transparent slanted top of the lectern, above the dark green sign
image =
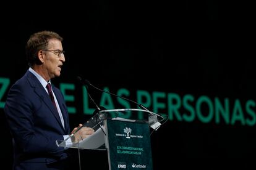
<svg viewBox="0 0 256 170"><path fill-rule="evenodd" d="M119 121L143 122L148 123L148 126L157 129L161 125L163 116L153 113L148 110L136 108L122 108L113 110L100 110L93 113L92 118L88 119L83 124L83 127L92 127L95 133L79 142L72 142L71 138L77 133L80 128L71 134L66 140L56 140L58 147L68 148L83 148L92 150L106 150L106 133L105 133L105 119L115 119ZM81 127L82 128L82 127Z"/></svg>

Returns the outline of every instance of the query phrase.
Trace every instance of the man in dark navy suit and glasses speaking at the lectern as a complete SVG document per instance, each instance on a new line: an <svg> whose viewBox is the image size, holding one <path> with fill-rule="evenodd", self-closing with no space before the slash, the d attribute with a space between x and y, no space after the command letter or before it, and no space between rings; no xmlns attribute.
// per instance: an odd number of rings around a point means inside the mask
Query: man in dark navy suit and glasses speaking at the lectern
<svg viewBox="0 0 256 170"><path fill-rule="evenodd" d="M62 38L53 31L32 34L26 53L30 68L12 85L4 107L13 137L13 167L64 169L66 148L58 147L56 140L69 138L69 115L61 91L51 84L52 78L61 75L65 62ZM72 132L76 130L77 127ZM72 136L72 142L93 132L82 127Z"/></svg>

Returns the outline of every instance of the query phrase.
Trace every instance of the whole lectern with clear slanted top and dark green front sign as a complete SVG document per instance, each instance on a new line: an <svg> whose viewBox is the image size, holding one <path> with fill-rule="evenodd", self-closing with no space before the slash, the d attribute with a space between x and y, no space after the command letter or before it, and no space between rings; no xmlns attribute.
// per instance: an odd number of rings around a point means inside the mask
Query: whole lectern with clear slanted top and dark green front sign
<svg viewBox="0 0 256 170"><path fill-rule="evenodd" d="M59 147L107 150L109 170L153 169L150 130L158 129L163 119L161 115L137 108L100 110L83 124L95 130L92 136L76 143L69 142L70 139L56 140L56 144Z"/></svg>

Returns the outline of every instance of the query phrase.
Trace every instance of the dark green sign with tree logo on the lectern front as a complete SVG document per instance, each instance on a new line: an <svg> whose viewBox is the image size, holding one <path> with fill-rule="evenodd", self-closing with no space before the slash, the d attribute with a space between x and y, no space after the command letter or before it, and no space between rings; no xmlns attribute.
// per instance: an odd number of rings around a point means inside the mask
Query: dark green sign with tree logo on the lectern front
<svg viewBox="0 0 256 170"><path fill-rule="evenodd" d="M107 119L109 169L153 169L147 123Z"/></svg>

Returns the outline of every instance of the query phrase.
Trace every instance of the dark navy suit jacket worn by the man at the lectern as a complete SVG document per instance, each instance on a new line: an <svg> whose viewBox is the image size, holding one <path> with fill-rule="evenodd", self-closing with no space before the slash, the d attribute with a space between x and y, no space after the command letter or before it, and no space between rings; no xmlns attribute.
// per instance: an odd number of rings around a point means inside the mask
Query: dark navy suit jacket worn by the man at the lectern
<svg viewBox="0 0 256 170"><path fill-rule="evenodd" d="M67 107L61 91L53 86L53 92L65 129L49 95L30 71L11 87L4 111L13 136L14 169L60 169L58 163L67 158L64 148L56 145L70 132Z"/></svg>

